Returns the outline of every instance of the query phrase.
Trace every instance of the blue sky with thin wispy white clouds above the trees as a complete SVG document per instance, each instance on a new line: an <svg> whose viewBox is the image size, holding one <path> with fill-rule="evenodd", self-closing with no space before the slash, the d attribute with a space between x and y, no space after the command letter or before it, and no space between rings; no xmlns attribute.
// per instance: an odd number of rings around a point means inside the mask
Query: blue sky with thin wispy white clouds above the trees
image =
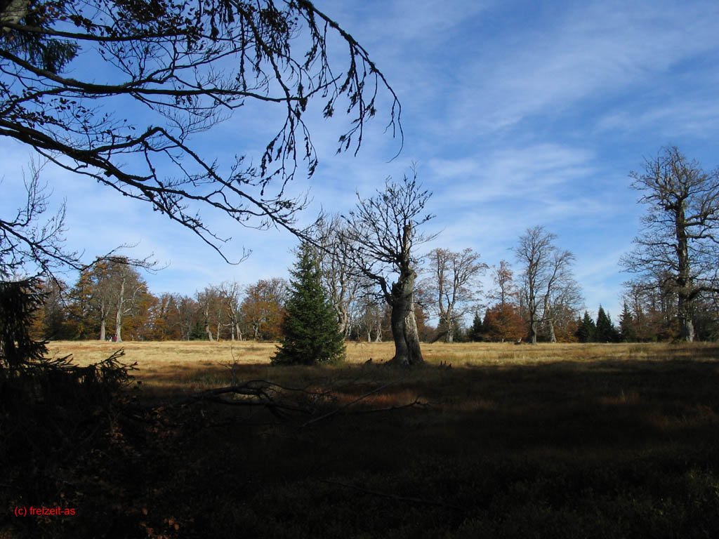
<svg viewBox="0 0 719 539"><path fill-rule="evenodd" d="M404 147L383 131L380 110L357 157L335 155L336 121L311 121L320 166L292 189L310 189L320 208L347 211L354 192L371 195L416 162L436 214L425 246L513 262L528 227L557 234L577 257L587 308L616 321L618 259L631 248L642 208L628 172L667 144L719 165L719 4L715 1L316 1L370 52L403 106ZM249 112L249 114L248 114ZM219 157L267 142L263 111L243 111L198 140ZM242 133L242 137L239 136ZM247 134L256 134L257 137ZM27 149L0 141L0 211L17 206ZM117 244L169 266L150 289L192 295L224 280L246 284L287 275L296 240L285 231L205 219L232 236L230 266L190 232L106 188L45 169L52 200L68 206L67 245L88 257ZM20 183L19 185L22 185Z"/></svg>

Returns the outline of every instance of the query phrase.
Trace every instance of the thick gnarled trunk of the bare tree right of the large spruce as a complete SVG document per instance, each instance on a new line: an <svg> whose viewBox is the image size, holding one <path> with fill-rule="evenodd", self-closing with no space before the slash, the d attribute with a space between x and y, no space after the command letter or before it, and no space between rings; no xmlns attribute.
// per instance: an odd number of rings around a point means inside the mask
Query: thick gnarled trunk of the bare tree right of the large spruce
<svg viewBox="0 0 719 539"><path fill-rule="evenodd" d="M392 315L392 337L395 341L395 356L390 364L412 367L424 363L419 346L417 320L414 315L414 280L416 273L408 270L392 285L390 306Z"/></svg>

